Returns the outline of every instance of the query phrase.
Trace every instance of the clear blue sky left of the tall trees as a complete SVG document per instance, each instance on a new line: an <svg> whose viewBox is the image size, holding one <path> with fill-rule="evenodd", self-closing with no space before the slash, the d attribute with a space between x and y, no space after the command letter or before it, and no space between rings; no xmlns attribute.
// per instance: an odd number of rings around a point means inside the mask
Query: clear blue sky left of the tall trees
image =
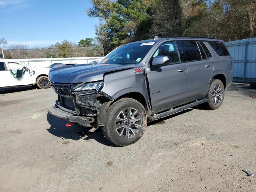
<svg viewBox="0 0 256 192"><path fill-rule="evenodd" d="M0 0L0 38L30 47L94 38L99 19L87 16L90 7L90 0Z"/></svg>

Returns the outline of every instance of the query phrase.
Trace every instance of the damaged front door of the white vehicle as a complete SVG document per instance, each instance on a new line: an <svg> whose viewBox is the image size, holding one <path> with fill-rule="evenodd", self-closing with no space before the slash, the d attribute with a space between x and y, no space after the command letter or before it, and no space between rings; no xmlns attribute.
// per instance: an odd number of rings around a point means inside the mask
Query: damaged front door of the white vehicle
<svg viewBox="0 0 256 192"><path fill-rule="evenodd" d="M11 83L13 86L32 84L32 78L26 66L18 62L8 62L8 68L12 76Z"/></svg>

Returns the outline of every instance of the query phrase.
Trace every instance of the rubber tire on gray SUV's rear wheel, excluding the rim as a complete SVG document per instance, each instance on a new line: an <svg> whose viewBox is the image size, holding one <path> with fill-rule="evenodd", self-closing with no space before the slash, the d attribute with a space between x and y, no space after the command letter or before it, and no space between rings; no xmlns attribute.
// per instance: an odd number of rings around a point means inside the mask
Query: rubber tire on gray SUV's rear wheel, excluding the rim
<svg viewBox="0 0 256 192"><path fill-rule="evenodd" d="M217 104L215 104L214 99L213 99L213 93L214 93L214 89L218 88L218 86L221 87L222 99L220 101L218 101ZM225 88L224 88L222 81L219 79L212 79L210 81L210 87L209 87L208 93L206 95L208 102L204 103L203 106L210 110L218 109L224 100L224 95L225 95Z"/></svg>

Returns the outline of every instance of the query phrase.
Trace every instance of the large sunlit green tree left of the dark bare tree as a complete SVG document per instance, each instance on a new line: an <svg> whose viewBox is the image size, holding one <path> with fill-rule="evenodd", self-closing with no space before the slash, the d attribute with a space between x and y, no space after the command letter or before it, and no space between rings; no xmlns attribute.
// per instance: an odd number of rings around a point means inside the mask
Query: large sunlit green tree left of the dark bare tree
<svg viewBox="0 0 256 192"><path fill-rule="evenodd" d="M87 14L100 18L96 35L105 53L121 44L146 38L157 1L92 0L92 8L87 10Z"/></svg>

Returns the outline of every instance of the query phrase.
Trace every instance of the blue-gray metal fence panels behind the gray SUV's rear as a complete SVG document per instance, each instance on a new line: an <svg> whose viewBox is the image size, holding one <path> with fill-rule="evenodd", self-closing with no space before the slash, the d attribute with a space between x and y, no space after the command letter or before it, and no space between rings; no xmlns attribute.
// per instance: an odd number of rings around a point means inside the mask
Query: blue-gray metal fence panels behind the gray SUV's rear
<svg viewBox="0 0 256 192"><path fill-rule="evenodd" d="M224 43L234 62L234 81L256 81L256 38Z"/></svg>

